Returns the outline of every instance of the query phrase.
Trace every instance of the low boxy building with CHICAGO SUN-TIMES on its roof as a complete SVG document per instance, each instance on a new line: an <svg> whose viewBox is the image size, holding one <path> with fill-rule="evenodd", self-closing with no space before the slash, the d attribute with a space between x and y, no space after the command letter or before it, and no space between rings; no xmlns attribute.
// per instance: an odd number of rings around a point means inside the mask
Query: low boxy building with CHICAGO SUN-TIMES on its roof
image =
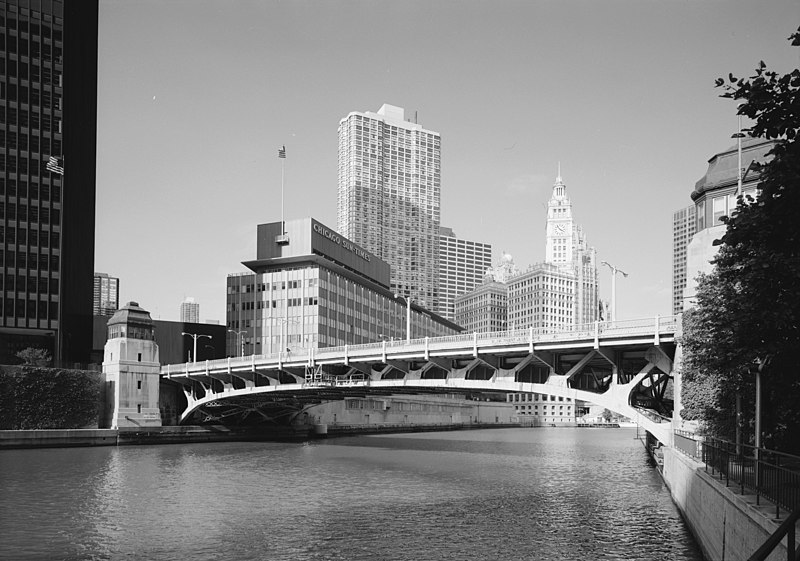
<svg viewBox="0 0 800 561"><path fill-rule="evenodd" d="M335 230L303 218L257 226L250 272L227 278L228 355L405 339L408 303L388 263ZM414 302L411 338L461 328Z"/></svg>

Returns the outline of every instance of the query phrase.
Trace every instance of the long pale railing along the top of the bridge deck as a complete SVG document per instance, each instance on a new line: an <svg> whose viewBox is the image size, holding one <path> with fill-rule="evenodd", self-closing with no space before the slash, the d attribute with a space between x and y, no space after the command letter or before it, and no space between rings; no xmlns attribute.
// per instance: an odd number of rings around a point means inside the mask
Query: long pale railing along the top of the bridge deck
<svg viewBox="0 0 800 561"><path fill-rule="evenodd" d="M378 341L358 345L339 345L323 348L296 348L288 351L261 355L247 355L243 357L230 357L209 360L197 363L170 364L162 367L162 374L180 375L181 373L202 373L206 369L220 371L228 367L241 369L257 363L292 363L297 365L303 362L312 363L316 360L344 360L383 353L421 353L424 351L440 351L470 344L479 347L494 345L536 344L570 340L586 340L597 337L617 338L636 335L656 335L675 333L678 329L677 316L655 316L653 318L620 320L613 322L594 322L576 326L569 331L558 331L554 328L527 328L495 331L490 333L462 333L444 337L425 337L406 341L395 339L393 341Z"/></svg>

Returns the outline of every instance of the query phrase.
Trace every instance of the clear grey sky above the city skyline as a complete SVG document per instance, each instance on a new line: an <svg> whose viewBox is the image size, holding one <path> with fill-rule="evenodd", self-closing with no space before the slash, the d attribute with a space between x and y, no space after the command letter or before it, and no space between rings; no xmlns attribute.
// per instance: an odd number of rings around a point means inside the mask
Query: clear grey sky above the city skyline
<svg viewBox="0 0 800 561"><path fill-rule="evenodd" d="M120 305L225 322L257 224L336 228L337 127L442 138L441 223L525 269L561 165L620 319L671 313L672 213L733 145L714 80L800 67L796 0L101 0L95 270ZM745 125L747 123L745 122ZM600 296L611 298L609 269Z"/></svg>

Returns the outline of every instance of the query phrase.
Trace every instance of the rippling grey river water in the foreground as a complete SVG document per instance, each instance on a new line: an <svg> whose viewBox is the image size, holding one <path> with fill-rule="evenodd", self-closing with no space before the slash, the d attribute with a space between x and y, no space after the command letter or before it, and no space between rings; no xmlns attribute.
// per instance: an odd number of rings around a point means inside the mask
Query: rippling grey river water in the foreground
<svg viewBox="0 0 800 561"><path fill-rule="evenodd" d="M696 560L635 429L0 452L0 559Z"/></svg>

